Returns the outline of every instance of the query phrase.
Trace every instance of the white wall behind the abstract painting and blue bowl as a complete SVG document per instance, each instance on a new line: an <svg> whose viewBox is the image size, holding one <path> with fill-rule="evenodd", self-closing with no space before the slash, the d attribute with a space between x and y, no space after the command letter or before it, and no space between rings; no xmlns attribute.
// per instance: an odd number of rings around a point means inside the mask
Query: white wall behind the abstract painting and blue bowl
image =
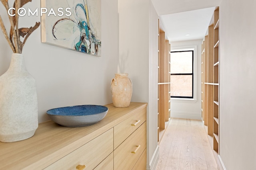
<svg viewBox="0 0 256 170"><path fill-rule="evenodd" d="M24 7L40 8L40 1ZM2 4L0 15L8 22ZM20 18L20 27L30 27L36 21L40 16ZM36 79L39 122L48 120L46 111L55 107L112 102L110 81L117 72L118 36L118 0L102 0L102 57L43 44L40 28L30 35L23 55L27 70ZM0 33L0 75L8 69L11 54Z"/></svg>

